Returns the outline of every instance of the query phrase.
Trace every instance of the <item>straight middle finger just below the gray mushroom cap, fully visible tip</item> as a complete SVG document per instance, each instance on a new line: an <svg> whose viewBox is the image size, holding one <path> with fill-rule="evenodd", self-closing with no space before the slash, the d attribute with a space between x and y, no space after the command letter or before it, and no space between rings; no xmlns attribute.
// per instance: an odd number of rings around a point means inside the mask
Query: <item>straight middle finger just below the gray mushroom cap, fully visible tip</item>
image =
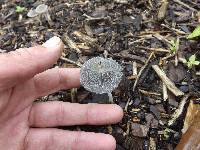
<svg viewBox="0 0 200 150"><path fill-rule="evenodd" d="M119 122L122 117L121 107L114 104L43 102L33 104L29 123L32 127L102 125Z"/></svg>

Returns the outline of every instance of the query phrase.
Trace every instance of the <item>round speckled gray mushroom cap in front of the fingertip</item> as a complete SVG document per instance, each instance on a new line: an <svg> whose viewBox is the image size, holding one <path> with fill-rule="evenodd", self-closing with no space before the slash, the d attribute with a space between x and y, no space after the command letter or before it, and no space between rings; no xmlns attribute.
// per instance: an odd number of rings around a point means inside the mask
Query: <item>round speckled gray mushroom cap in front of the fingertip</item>
<svg viewBox="0 0 200 150"><path fill-rule="evenodd" d="M122 79L122 70L111 58L94 57L83 64L80 82L90 92L111 93Z"/></svg>

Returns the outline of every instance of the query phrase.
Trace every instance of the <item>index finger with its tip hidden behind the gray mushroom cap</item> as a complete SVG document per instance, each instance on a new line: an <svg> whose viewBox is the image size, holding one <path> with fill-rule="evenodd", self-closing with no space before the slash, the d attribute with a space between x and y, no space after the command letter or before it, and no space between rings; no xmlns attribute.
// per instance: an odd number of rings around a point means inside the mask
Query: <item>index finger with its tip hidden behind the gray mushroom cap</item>
<svg viewBox="0 0 200 150"><path fill-rule="evenodd" d="M34 94L36 97L45 96L56 92L61 89L69 89L80 86L80 69L78 68L53 68L43 73L36 75L27 86L33 85L33 91L30 94ZM26 86L26 85L24 85Z"/></svg>

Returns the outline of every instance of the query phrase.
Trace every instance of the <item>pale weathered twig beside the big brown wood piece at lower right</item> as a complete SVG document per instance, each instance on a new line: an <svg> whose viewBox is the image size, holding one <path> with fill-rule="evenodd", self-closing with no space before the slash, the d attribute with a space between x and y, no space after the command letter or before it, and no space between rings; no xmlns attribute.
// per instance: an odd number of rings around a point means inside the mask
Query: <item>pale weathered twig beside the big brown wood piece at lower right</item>
<svg viewBox="0 0 200 150"><path fill-rule="evenodd" d="M178 108L177 108L176 111L172 114L172 118L168 121L168 125L169 125L169 126L173 125L173 124L176 122L176 120L180 117L180 115L181 115L182 112L183 112L183 108L184 108L184 106L185 106L185 104L186 104L186 101L187 101L187 99L189 98L189 96L190 96L190 95L187 94L187 95L185 95L185 96L183 97L183 99L181 100L181 102L180 102Z"/></svg>

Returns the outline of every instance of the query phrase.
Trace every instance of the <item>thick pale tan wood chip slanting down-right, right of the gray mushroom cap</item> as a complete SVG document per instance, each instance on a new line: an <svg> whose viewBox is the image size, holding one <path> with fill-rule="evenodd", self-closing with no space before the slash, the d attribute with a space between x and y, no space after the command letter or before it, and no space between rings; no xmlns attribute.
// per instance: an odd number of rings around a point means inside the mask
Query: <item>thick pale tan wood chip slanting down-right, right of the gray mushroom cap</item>
<svg viewBox="0 0 200 150"><path fill-rule="evenodd" d="M152 68L158 74L162 82L167 86L167 88L176 96L184 95L182 91L180 91L175 84L166 76L166 74L158 67L158 65L153 65Z"/></svg>

